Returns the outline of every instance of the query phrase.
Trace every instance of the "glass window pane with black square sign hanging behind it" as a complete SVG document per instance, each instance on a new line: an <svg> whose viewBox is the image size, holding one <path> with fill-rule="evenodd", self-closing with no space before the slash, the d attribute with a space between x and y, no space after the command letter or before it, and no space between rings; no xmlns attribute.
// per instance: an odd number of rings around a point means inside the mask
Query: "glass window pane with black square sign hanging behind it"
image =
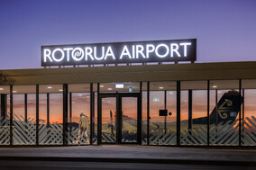
<svg viewBox="0 0 256 170"><path fill-rule="evenodd" d="M150 144L176 144L176 82L150 84Z"/></svg>

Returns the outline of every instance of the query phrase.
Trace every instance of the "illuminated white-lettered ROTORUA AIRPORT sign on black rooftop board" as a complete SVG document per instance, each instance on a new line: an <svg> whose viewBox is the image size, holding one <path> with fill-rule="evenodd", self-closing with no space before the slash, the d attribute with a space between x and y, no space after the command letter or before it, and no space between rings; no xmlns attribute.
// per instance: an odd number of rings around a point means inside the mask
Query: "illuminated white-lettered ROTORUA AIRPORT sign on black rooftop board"
<svg viewBox="0 0 256 170"><path fill-rule="evenodd" d="M197 40L41 46L41 66L196 61Z"/></svg>

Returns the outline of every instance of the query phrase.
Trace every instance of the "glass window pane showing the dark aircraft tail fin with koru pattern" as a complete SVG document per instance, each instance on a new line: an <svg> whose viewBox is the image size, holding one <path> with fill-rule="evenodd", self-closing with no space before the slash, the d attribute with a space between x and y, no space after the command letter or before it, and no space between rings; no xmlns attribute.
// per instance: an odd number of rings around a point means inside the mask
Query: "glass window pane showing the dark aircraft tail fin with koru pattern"
<svg viewBox="0 0 256 170"><path fill-rule="evenodd" d="M210 145L238 145L239 81L210 81L210 91Z"/></svg>

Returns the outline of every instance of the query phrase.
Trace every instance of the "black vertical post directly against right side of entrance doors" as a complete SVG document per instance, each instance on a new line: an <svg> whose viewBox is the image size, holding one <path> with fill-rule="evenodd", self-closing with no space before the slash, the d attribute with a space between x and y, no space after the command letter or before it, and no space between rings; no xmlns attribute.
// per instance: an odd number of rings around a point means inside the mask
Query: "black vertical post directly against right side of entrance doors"
<svg viewBox="0 0 256 170"><path fill-rule="evenodd" d="M138 130L138 133L137 133L137 140L138 140L138 144L139 145L142 145L142 82L140 82L140 96L139 98L137 99L138 100L138 125L137 125L137 130Z"/></svg>

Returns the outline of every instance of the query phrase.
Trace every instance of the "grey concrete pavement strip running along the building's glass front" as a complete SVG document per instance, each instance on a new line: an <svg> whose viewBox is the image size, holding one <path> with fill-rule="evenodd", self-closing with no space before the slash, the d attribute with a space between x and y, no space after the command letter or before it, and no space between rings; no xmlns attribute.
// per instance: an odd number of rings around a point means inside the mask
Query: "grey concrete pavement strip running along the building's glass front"
<svg viewBox="0 0 256 170"><path fill-rule="evenodd" d="M256 166L256 149L170 148L136 145L0 148L0 160Z"/></svg>

